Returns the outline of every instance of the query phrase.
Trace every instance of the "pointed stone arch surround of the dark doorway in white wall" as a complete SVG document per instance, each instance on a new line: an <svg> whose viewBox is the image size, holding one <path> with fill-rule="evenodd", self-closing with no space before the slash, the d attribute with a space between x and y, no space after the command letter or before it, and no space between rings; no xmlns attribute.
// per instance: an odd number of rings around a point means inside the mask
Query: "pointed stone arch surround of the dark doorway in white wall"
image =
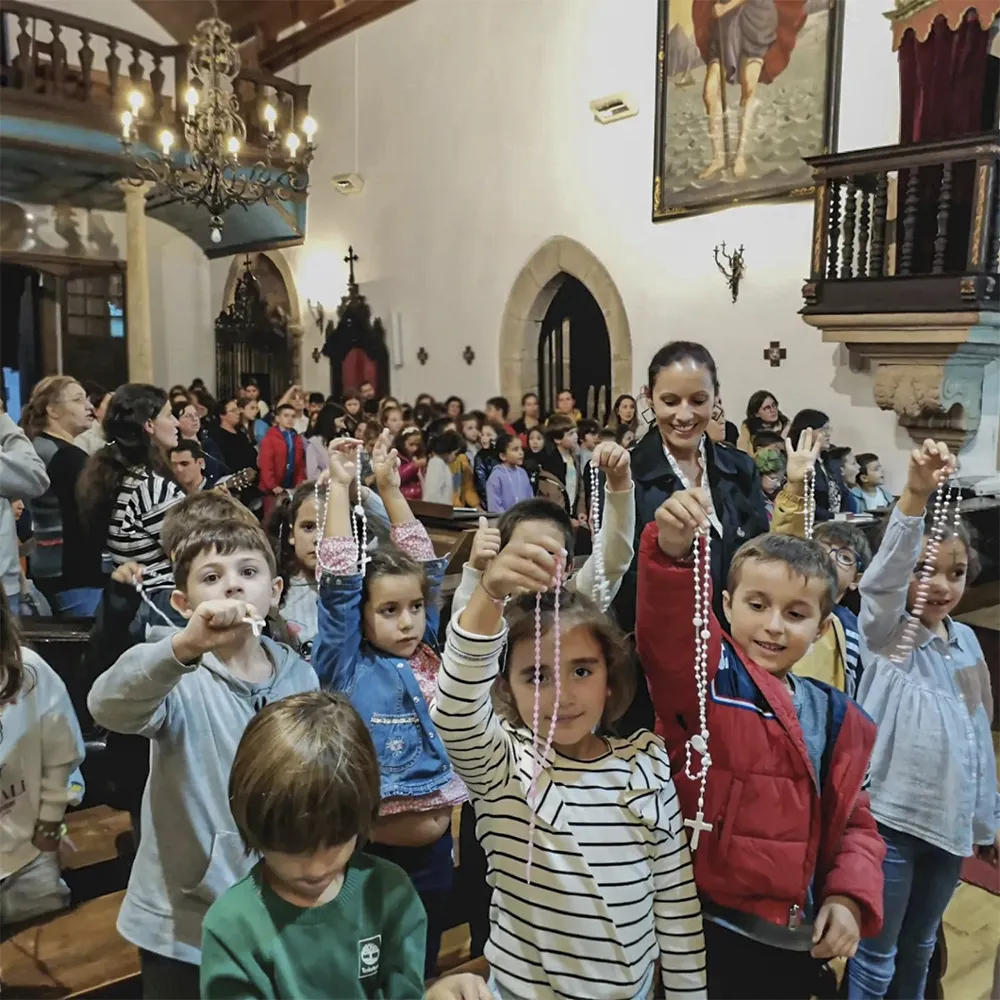
<svg viewBox="0 0 1000 1000"><path fill-rule="evenodd" d="M632 336L625 305L611 275L582 243L554 236L521 268L504 309L500 389L515 410L526 392L539 391L540 332L567 275L587 289L604 317L611 350L612 401L620 393L632 391Z"/></svg>

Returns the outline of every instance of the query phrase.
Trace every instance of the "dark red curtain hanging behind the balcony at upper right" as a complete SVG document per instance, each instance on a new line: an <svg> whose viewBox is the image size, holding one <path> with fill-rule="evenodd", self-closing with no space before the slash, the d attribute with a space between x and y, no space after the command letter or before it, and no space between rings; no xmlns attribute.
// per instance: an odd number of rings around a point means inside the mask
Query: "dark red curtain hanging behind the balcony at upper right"
<svg viewBox="0 0 1000 1000"><path fill-rule="evenodd" d="M988 27L988 26L987 26ZM899 141L952 139L990 127L984 123L989 31L967 10L952 31L943 14L924 41L914 31L899 46Z"/></svg>

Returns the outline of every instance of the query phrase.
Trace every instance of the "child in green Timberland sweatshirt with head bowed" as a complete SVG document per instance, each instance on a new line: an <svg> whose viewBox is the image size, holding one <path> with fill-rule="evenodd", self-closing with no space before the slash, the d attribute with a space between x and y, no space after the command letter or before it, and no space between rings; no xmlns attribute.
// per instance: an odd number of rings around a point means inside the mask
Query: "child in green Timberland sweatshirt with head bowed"
<svg viewBox="0 0 1000 1000"><path fill-rule="evenodd" d="M422 997L423 906L401 868L359 849L379 773L351 703L315 691L268 705L237 748L229 802L262 860L205 917L202 997Z"/></svg>

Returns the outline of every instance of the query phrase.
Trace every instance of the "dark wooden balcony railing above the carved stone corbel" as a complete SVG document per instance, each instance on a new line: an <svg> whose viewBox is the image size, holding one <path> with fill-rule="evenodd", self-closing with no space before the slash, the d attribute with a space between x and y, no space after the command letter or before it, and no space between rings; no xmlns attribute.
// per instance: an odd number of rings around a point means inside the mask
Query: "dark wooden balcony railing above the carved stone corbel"
<svg viewBox="0 0 1000 1000"><path fill-rule="evenodd" d="M808 314L1000 309L1000 132L807 162Z"/></svg>

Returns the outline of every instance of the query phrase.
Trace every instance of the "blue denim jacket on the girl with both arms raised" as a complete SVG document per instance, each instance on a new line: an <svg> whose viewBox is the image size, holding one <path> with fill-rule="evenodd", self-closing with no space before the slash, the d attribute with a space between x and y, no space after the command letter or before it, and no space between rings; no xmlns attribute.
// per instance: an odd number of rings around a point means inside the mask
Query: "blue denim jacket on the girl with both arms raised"
<svg viewBox="0 0 1000 1000"><path fill-rule="evenodd" d="M409 548L395 529L393 539L400 548ZM322 544L331 541L340 539ZM421 561L431 590L439 589L447 559ZM378 754L382 798L420 798L451 781L451 764L410 665L375 649L362 636L362 582L356 572L321 578L312 665L320 685L347 695L368 726ZM439 609L428 602L424 642L435 652L439 620Z"/></svg>

